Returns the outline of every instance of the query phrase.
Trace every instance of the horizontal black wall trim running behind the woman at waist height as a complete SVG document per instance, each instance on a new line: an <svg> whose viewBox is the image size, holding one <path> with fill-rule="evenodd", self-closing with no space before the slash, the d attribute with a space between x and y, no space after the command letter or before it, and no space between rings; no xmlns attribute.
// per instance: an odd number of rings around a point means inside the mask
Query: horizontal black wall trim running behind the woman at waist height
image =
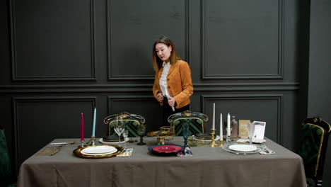
<svg viewBox="0 0 331 187"><path fill-rule="evenodd" d="M0 86L0 94L24 93L100 93L100 92L151 92L152 84L93 84L93 85L25 85ZM238 83L238 84L193 84L194 91L297 91L293 83Z"/></svg>

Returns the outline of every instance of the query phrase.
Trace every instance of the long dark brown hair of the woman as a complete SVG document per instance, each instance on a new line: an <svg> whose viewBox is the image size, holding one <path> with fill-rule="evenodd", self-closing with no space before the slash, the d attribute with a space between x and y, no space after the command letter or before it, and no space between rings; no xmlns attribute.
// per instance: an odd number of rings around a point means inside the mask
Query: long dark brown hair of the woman
<svg viewBox="0 0 331 187"><path fill-rule="evenodd" d="M162 67L163 64L163 60L161 60L158 55L156 55L156 44L158 43L163 43L165 45L167 45L168 47L171 46L172 47L172 51L170 54L170 64L175 64L177 62L177 60L180 60L180 57L178 57L177 55L177 50L175 48L175 45L173 45L173 42L170 40L170 38L168 38L165 35L162 35L160 38L158 38L158 40L156 40L153 44L153 69L155 70L155 72L158 72L158 69L160 69Z"/></svg>

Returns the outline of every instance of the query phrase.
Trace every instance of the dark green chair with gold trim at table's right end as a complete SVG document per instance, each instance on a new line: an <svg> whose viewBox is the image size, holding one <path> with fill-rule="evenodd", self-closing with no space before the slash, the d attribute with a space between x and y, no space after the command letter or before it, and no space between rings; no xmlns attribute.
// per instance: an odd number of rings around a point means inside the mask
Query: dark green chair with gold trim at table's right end
<svg viewBox="0 0 331 187"><path fill-rule="evenodd" d="M301 125L301 145L298 154L303 159L307 185L322 186L323 168L327 152L327 140L331 132L330 125L316 116L307 118Z"/></svg>

